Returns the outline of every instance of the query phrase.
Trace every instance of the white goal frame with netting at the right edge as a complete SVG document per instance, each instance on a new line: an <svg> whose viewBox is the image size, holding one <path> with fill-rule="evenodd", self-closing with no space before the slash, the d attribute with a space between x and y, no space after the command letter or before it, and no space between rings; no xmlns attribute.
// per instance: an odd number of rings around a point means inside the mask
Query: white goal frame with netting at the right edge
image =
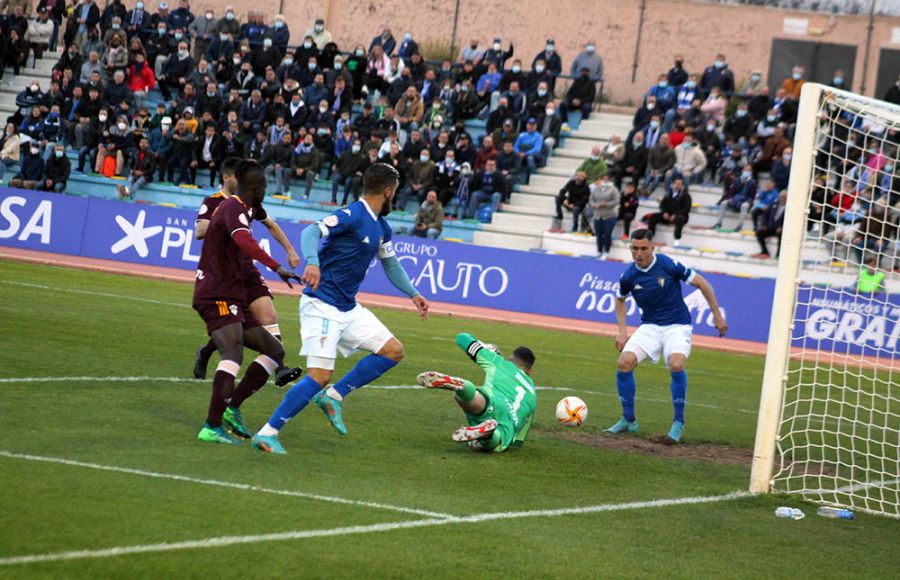
<svg viewBox="0 0 900 580"><path fill-rule="evenodd" d="M751 490L900 517L900 108L803 89Z"/></svg>

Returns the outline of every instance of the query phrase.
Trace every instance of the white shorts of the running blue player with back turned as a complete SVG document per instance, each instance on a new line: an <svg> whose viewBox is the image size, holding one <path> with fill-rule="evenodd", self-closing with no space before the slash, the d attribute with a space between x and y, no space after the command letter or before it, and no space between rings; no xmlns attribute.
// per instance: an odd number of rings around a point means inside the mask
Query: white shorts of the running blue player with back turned
<svg viewBox="0 0 900 580"><path fill-rule="evenodd" d="M300 298L300 338L306 366L334 370L337 354L348 357L357 350L378 352L394 337L372 312L359 304L341 312L318 298Z"/></svg>

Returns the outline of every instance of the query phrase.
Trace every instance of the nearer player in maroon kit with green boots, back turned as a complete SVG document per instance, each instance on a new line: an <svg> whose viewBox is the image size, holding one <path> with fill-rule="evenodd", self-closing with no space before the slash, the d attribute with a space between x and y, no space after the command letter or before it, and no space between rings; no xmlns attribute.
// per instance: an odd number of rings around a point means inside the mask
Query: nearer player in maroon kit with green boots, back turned
<svg viewBox="0 0 900 580"><path fill-rule="evenodd" d="M237 194L219 204L209 222L194 284L194 309L219 351L206 423L201 441L240 445L224 428L249 439L240 406L258 391L284 359L284 348L262 328L247 306L246 261L257 260L274 270L288 286L300 281L253 239L250 223L266 194L266 174L256 162L241 161L235 168ZM260 353L235 386L244 346Z"/></svg>

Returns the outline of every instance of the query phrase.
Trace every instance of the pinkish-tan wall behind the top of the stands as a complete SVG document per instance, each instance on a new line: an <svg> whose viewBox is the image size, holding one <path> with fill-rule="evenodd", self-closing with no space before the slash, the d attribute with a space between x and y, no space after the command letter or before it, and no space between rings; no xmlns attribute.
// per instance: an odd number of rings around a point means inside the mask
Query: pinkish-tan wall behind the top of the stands
<svg viewBox="0 0 900 580"><path fill-rule="evenodd" d="M453 33L455 2L438 0L234 0L231 4L243 17L247 11L263 12L271 18L282 8L291 29L292 44L299 44L317 17L325 17L326 27L342 49L368 43L381 27L389 25L398 39L410 30L420 46L449 48ZM641 0L517 0L483 2L460 0L456 46L472 37L484 47L494 36L504 43L512 40L516 56L531 64L547 38L554 38L568 74L572 59L584 42L593 39L604 57L605 90L612 102L637 102L656 81L657 75L672 66L672 56L682 53L689 72L702 72L717 52L726 55L740 84L759 68L767 74L772 40L784 38L852 45L856 51L853 91L860 92L865 60L867 16L829 16L812 12L774 10L757 6L737 6L690 2L687 0L646 0L641 46L635 78L632 80ZM211 7L217 15L223 5L202 0L192 2L195 12ZM786 19L806 20L803 34L791 30ZM793 30L797 22L793 21ZM874 22L865 94L872 95L882 48L900 50L900 18L881 16ZM892 43L892 35L896 42ZM505 46L505 44L504 44ZM777 79L779 82L781 79ZM880 97L881 95L875 95Z"/></svg>

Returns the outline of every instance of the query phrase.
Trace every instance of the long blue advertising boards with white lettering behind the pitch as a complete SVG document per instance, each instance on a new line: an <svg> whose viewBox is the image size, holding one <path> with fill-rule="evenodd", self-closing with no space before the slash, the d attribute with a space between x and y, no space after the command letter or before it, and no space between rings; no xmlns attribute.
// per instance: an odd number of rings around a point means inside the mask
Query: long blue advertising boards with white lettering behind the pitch
<svg viewBox="0 0 900 580"><path fill-rule="evenodd" d="M135 267L196 269L201 243L194 239L194 212L171 207L122 203L99 198L60 196L0 188L0 246L115 260ZM292 240L304 227L282 223ZM286 261L267 230L255 224L260 245ZM299 243L299 242L298 242ZM535 252L499 250L458 243L397 238L394 247L420 292L429 300L493 312L525 313L582 322L612 324L619 275L624 265ZM380 265L373 265L362 290L396 296ZM123 267L127 272L128 266ZM265 275L274 274L261 268ZM552 274L550 274L552 273ZM713 286L731 338L765 343L768 336L774 281L721 274L704 274ZM685 302L694 332L715 336L708 305L700 291L685 287ZM900 339L900 297L873 309L865 298L857 302L826 300L821 289L805 287L810 304L795 329L798 340L831 351L831 338L851 344L847 354L875 355L895 349ZM629 323L639 323L639 311L628 300ZM799 345L795 341L795 345Z"/></svg>

